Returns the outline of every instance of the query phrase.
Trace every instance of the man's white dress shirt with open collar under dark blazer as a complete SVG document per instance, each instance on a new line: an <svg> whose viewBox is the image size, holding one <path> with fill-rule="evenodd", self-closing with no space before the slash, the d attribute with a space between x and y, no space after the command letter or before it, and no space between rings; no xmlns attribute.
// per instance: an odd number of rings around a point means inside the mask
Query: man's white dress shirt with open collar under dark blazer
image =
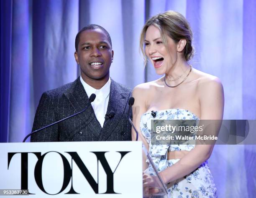
<svg viewBox="0 0 256 198"><path fill-rule="evenodd" d="M92 108L96 115L97 120L99 121L101 127L103 128L103 124L105 121L105 115L108 109L108 100L109 100L109 93L110 93L110 78L108 82L100 89L95 89L84 82L82 76L80 76L80 81L84 86L84 90L87 93L87 96L90 97L92 93L95 93L96 98L92 102Z"/></svg>

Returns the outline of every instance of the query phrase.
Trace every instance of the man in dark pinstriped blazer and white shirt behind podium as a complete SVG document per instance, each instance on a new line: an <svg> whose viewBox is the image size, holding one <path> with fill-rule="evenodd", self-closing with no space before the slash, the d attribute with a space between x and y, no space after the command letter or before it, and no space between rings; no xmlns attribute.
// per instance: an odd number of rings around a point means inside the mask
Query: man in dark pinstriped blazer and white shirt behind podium
<svg viewBox="0 0 256 198"><path fill-rule="evenodd" d="M31 141L131 140L127 120L131 89L110 79L114 51L109 33L100 25L88 25L77 33L75 48L80 78L43 93L32 130L83 110L92 93L96 98L83 113L33 134ZM105 119L111 110L113 115Z"/></svg>

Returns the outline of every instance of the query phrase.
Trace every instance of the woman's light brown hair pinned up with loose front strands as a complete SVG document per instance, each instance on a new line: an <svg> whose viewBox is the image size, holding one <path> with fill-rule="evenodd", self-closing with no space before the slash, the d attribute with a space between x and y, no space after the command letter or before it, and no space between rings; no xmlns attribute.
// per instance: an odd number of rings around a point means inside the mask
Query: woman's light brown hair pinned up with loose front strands
<svg viewBox="0 0 256 198"><path fill-rule="evenodd" d="M183 50L184 58L188 61L193 57L195 51L192 46L192 31L190 25L182 14L170 10L148 19L146 24L143 26L143 29L141 30L140 48L141 52L143 53L145 65L147 58L144 48L144 40L146 31L150 25L154 25L160 30L162 42L164 43L167 50L168 45L166 35L172 38L176 43L178 43L181 39L185 39L187 44Z"/></svg>

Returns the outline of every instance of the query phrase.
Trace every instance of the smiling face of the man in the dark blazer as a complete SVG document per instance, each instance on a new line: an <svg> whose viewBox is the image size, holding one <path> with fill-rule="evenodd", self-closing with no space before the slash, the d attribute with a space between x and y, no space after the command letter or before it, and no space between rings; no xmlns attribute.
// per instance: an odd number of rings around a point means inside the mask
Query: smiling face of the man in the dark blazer
<svg viewBox="0 0 256 198"><path fill-rule="evenodd" d="M113 55L107 35L102 30L85 30L80 34L74 56L84 80L108 80Z"/></svg>

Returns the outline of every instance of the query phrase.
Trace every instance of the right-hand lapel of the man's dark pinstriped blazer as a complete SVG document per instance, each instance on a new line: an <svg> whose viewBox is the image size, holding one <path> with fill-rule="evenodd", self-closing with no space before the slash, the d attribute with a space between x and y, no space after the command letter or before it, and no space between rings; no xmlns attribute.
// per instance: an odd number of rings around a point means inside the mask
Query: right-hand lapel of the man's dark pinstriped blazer
<svg viewBox="0 0 256 198"><path fill-rule="evenodd" d="M106 141L111 135L115 127L118 125L120 118L123 115L125 107L127 105L128 95L127 93L122 93L117 83L111 79L110 84L110 97L108 101L108 110L109 113L111 110L115 112L113 118L107 119L104 122L102 132L100 134L100 141Z"/></svg>

